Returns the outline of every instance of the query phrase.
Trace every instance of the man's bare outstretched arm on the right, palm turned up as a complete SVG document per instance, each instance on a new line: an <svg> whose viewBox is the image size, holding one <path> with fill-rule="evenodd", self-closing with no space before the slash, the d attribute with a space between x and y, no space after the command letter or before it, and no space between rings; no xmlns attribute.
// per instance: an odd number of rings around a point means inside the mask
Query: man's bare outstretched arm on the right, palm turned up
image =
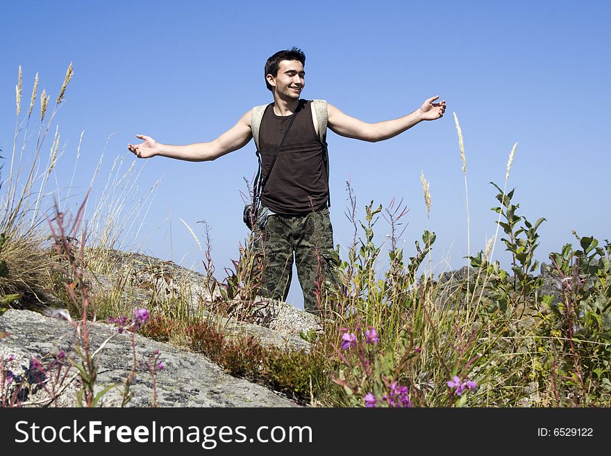
<svg viewBox="0 0 611 456"><path fill-rule="evenodd" d="M328 104L328 126L338 135L352 137L356 140L369 142L383 141L403 133L423 120L435 120L443 117L446 110L446 101L433 103L439 96L433 96L422 103L421 107L411 114L399 119L368 124L349 115L345 115L335 106Z"/></svg>

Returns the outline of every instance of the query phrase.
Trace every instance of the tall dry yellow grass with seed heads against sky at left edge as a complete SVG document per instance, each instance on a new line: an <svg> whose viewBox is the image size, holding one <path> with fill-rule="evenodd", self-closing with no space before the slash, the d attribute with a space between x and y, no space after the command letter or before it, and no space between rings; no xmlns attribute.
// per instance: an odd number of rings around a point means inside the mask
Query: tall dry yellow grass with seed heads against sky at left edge
<svg viewBox="0 0 611 456"><path fill-rule="evenodd" d="M3 167L0 184L0 232L6 235L6 243L0 253L6 262L8 276L0 278L0 297L20 293L22 298L12 305L48 304L61 296L60 282L69 280L65 276L67 268L58 267L57 257L52 255L53 239L49 235L47 219L53 218L53 208L57 203L66 210L78 170L79 158L82 155L83 133L78 142L76 157L67 150L56 125L56 115L62 107L69 83L74 76L72 63L67 68L58 96L53 105L49 104L51 95L46 89L40 94L40 115L35 113L39 99L40 76L36 74L33 90L29 98L28 110L22 110L23 81L22 68L19 67L17 85L15 86L16 110L15 132L13 135L10 166ZM49 132L53 135L49 140ZM110 137L109 137L110 140ZM94 188L99 178L108 142L104 147L98 165L90 179L86 192ZM48 153L44 151L47 149ZM58 163L67 155L74 162L72 177L69 183L58 179ZM88 223L86 230L87 267L97 270L108 270L112 260L113 249L137 248L135 241L128 241L128 235L136 239L146 214L152 204L154 193L160 183L157 181L148 192L138 188L138 178L142 167L135 167L135 160L126 163L127 154L117 156L112 164L101 196L97 201L87 201L89 212L85 210ZM55 184L55 188L51 186ZM78 201L81 203L82 201Z"/></svg>

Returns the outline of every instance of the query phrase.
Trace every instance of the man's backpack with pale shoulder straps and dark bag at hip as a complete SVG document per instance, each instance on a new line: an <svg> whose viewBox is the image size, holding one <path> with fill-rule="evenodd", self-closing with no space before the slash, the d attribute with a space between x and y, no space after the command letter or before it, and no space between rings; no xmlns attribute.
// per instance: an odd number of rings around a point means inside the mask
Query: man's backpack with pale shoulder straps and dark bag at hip
<svg viewBox="0 0 611 456"><path fill-rule="evenodd" d="M263 119L263 114L265 113L265 109L269 106L267 105L258 105L255 106L251 111L251 130L253 132L253 139L255 140L255 146L257 148L256 155L259 162L259 167L257 171L257 176L253 183L253 203L246 204L244 206L244 214L243 219L246 226L253 229L252 221L256 218L256 214L258 213L259 205L260 205L260 196L263 191L263 185L265 185L266 179L262 179L261 176L261 153L259 151L259 130L261 126L261 121ZM329 178L329 156L327 150L327 142L326 142L326 134L327 134L327 121L328 121L328 111L327 111L327 102L325 100L312 100L312 107L316 112L316 118L318 122L318 137L323 146L323 160L324 166L327 174L327 185ZM272 164L273 167L273 164ZM269 169L269 173L271 173L271 169ZM269 177L269 174L268 176ZM327 201L327 207L330 208L331 199Z"/></svg>

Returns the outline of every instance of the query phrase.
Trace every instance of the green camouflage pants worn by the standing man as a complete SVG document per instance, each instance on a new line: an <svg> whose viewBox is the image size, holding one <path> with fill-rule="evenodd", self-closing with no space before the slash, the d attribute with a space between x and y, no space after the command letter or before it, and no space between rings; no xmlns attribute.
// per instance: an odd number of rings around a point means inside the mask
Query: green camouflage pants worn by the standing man
<svg viewBox="0 0 611 456"><path fill-rule="evenodd" d="M333 248L333 228L327 208L303 215L272 214L259 236L263 262L262 296L286 301L293 258L303 290L303 307L317 314L320 303L340 286L336 268L340 259Z"/></svg>

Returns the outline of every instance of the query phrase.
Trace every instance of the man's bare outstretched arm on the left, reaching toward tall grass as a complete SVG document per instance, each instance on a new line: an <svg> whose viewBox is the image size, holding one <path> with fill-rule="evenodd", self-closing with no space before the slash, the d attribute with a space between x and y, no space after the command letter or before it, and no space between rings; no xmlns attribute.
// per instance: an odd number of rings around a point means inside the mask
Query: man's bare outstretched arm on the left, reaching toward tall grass
<svg viewBox="0 0 611 456"><path fill-rule="evenodd" d="M226 153L237 151L251 140L251 111L246 112L232 128L217 137L212 142L196 142L186 146L171 146L156 142L150 136L136 135L144 142L140 144L128 144L127 148L139 158L151 158L156 155L190 162L206 162L215 160Z"/></svg>

